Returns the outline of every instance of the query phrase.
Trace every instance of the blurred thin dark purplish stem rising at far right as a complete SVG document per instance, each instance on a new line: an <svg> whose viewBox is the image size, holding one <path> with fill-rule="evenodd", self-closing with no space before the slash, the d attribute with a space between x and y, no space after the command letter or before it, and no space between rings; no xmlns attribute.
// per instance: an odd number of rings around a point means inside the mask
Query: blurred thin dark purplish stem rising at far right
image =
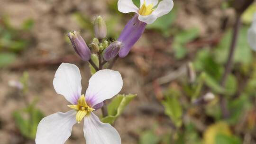
<svg viewBox="0 0 256 144"><path fill-rule="evenodd" d="M225 65L224 74L220 81L220 85L222 87L225 87L226 80L229 76L229 73L231 72L231 68L233 65L233 57L235 54L235 49L236 49L238 34L239 34L239 29L240 29L240 17L241 17L241 15L237 14L236 23L233 27L233 35L232 35L232 41L231 41L231 45L230 45L230 49L229 49L229 57L228 57L228 61L227 61L226 65ZM229 117L229 109L227 108L227 99L223 95L220 95L220 107L222 110L222 116L224 118L228 118Z"/></svg>

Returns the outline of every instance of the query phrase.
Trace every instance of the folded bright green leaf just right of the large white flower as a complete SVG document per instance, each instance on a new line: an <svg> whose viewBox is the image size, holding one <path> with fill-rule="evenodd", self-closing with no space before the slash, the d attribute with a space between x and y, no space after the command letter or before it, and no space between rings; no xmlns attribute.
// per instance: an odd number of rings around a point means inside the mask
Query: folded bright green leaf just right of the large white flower
<svg viewBox="0 0 256 144"><path fill-rule="evenodd" d="M103 117L101 121L103 123L113 124L117 117L119 117L124 108L128 105L128 103L134 99L137 95L136 94L128 94L128 95L121 95L118 94L108 105L108 113L109 116Z"/></svg>

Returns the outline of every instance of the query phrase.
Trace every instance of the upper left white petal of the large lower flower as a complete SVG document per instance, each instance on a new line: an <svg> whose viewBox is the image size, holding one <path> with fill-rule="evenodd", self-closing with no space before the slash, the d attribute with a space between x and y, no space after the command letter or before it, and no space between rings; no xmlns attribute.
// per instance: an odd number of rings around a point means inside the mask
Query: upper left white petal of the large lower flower
<svg viewBox="0 0 256 144"><path fill-rule="evenodd" d="M62 63L55 73L54 89L70 103L76 104L81 96L81 74L79 68L70 63Z"/></svg>

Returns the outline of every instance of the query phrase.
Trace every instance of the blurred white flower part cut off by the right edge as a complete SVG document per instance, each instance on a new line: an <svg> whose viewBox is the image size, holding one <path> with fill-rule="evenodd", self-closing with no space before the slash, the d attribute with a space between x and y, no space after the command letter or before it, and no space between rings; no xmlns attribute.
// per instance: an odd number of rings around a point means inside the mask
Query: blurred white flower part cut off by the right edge
<svg viewBox="0 0 256 144"><path fill-rule="evenodd" d="M254 14L253 23L247 33L248 43L256 51L256 13Z"/></svg>

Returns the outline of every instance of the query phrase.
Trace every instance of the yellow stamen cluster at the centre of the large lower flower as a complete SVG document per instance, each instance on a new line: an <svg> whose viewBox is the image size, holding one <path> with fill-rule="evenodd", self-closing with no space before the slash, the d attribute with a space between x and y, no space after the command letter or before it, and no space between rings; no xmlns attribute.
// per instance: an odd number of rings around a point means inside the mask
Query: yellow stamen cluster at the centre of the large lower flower
<svg viewBox="0 0 256 144"><path fill-rule="evenodd" d="M77 100L77 105L68 105L68 107L77 110L75 116L77 123L80 123L83 117L95 110L87 105L84 95Z"/></svg>

